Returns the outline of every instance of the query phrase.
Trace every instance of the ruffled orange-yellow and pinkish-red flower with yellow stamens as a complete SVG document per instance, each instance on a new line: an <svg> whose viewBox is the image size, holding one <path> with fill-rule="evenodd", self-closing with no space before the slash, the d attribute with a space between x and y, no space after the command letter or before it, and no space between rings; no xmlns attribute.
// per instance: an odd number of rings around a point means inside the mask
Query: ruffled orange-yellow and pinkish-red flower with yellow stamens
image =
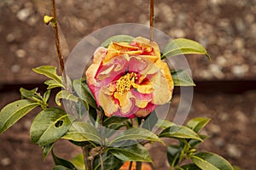
<svg viewBox="0 0 256 170"><path fill-rule="evenodd" d="M144 37L97 48L85 74L106 116L148 116L172 99L169 67L160 59L157 43Z"/></svg>

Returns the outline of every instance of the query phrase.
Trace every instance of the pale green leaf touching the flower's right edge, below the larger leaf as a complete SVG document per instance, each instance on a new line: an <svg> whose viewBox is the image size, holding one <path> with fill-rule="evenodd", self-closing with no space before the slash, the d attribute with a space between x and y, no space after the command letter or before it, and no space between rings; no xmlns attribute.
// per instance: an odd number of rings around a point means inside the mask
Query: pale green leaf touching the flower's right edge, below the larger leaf
<svg viewBox="0 0 256 170"><path fill-rule="evenodd" d="M174 86L195 86L195 82L193 82L187 71L171 71L171 74Z"/></svg>

